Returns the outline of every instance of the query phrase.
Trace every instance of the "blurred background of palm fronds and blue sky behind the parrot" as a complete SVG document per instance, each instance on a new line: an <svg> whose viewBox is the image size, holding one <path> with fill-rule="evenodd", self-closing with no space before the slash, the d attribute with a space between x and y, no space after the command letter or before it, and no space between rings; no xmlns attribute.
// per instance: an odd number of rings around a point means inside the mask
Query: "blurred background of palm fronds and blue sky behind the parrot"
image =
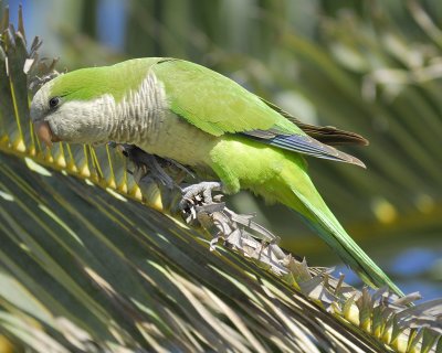
<svg viewBox="0 0 442 353"><path fill-rule="evenodd" d="M6 1L8 3L8 1ZM442 296L440 0L22 0L28 38L59 69L176 56L209 66L302 120L354 130L362 170L308 159L336 216L406 292ZM14 19L12 22L15 22ZM230 199L312 266L358 279L282 206Z"/></svg>

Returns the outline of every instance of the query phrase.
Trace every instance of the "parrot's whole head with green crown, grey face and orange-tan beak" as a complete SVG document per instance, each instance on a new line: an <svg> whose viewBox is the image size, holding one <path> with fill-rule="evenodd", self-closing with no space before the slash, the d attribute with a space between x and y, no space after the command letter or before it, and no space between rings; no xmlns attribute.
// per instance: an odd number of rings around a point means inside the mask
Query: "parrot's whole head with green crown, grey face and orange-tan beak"
<svg viewBox="0 0 442 353"><path fill-rule="evenodd" d="M57 141L97 143L109 139L105 108L113 97L103 89L94 90L96 81L92 77L96 76L94 68L74 71L48 82L36 92L31 103L31 120L48 146Z"/></svg>

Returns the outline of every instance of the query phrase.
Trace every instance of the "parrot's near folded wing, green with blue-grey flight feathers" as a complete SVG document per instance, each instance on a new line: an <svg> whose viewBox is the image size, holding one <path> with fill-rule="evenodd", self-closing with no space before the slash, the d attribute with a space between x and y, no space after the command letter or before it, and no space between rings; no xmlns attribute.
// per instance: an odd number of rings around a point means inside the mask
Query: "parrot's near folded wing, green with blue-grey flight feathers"
<svg viewBox="0 0 442 353"><path fill-rule="evenodd" d="M307 136L274 106L204 66L165 58L152 71L165 85L169 108L210 135L241 133L288 151L364 167L358 159Z"/></svg>

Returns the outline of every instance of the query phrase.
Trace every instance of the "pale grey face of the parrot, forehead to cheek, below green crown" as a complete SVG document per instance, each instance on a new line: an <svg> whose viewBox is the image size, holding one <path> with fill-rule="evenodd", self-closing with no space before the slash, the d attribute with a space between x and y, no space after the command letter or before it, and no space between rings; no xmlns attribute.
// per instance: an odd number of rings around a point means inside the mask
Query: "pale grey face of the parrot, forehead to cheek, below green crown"
<svg viewBox="0 0 442 353"><path fill-rule="evenodd" d="M41 140L49 146L56 141L94 143L107 140L103 117L109 98L66 100L50 96L52 84L49 82L40 88L31 104L31 120Z"/></svg>

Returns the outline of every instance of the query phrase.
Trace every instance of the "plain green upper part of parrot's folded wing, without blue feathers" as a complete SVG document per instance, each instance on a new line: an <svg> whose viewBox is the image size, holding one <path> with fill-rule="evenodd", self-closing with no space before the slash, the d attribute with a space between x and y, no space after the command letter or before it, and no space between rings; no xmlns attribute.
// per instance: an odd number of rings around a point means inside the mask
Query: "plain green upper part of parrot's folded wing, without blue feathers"
<svg viewBox="0 0 442 353"><path fill-rule="evenodd" d="M204 66L165 60L152 66L164 83L170 109L201 130L225 132L277 129L305 135L257 96Z"/></svg>

